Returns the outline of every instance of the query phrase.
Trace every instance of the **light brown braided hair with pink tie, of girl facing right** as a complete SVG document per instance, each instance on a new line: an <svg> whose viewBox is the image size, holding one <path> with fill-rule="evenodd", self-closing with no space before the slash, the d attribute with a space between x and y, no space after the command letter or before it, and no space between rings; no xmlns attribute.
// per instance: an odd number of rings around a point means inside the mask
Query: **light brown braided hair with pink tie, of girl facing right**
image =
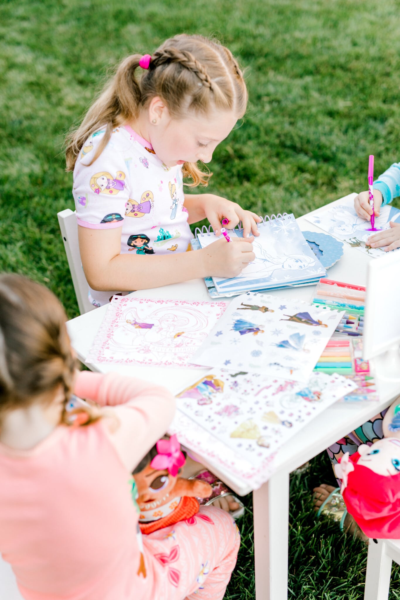
<svg viewBox="0 0 400 600"><path fill-rule="evenodd" d="M247 90L243 73L230 50L201 35L176 35L165 41L151 57L149 69L137 68L140 54L128 56L119 65L113 79L86 113L82 124L68 134L67 170L73 170L82 146L101 127L106 133L91 163L103 152L112 130L137 118L152 98L159 96L173 118L194 111L207 115L210 109L244 115ZM207 185L211 173L202 172L197 163L185 163L184 176L190 185Z"/></svg>

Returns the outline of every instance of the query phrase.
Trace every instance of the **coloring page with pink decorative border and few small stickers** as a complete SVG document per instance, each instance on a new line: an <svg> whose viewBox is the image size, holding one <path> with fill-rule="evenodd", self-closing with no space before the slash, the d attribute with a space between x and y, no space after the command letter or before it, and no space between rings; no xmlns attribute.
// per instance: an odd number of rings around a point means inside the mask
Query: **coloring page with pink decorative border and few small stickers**
<svg viewBox="0 0 400 600"><path fill-rule="evenodd" d="M114 296L86 360L185 367L225 307L225 302Z"/></svg>

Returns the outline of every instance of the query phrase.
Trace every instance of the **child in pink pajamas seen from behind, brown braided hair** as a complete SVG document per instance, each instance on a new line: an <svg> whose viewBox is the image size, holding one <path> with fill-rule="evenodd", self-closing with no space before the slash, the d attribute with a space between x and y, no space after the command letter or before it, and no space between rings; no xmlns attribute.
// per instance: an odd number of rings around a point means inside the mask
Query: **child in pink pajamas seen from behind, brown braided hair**
<svg viewBox="0 0 400 600"><path fill-rule="evenodd" d="M77 373L46 288L0 276L0 553L26 600L222 600L239 535L211 506L143 536L131 472L175 410L166 389ZM68 416L71 393L101 404Z"/></svg>

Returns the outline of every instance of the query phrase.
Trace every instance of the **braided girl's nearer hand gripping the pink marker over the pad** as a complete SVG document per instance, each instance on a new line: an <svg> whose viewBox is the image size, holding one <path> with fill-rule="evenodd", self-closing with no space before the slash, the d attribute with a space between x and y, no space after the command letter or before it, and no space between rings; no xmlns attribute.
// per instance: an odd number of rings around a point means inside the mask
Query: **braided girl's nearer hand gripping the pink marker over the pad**
<svg viewBox="0 0 400 600"><path fill-rule="evenodd" d="M218 239L203 250L204 273L213 277L237 277L249 262L255 259L252 251L254 238L233 238L227 242Z"/></svg>

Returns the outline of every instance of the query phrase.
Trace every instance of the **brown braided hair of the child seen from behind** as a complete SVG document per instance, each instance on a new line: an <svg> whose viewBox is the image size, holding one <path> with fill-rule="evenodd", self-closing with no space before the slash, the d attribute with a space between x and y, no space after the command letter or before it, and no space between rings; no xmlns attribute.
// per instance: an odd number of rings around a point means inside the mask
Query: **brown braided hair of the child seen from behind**
<svg viewBox="0 0 400 600"><path fill-rule="evenodd" d="M0 427L7 410L25 409L37 397L64 388L65 405L73 388L76 359L64 308L46 287L16 274L0 275ZM97 421L86 412L85 424ZM65 415L62 420L70 424Z"/></svg>

